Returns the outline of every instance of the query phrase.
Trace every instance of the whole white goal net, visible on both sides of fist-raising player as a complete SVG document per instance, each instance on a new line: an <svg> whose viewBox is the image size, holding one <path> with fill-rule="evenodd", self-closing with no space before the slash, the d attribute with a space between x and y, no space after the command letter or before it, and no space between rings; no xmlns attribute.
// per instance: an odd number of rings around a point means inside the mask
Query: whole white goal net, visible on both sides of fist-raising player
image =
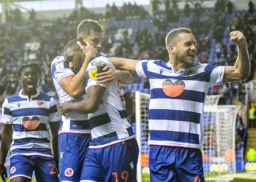
<svg viewBox="0 0 256 182"><path fill-rule="evenodd" d="M136 92L136 138L140 147L138 182L150 181L148 168L149 94ZM239 106L218 106L219 95L206 96L203 169L206 181L231 181L236 173L236 114Z"/></svg>

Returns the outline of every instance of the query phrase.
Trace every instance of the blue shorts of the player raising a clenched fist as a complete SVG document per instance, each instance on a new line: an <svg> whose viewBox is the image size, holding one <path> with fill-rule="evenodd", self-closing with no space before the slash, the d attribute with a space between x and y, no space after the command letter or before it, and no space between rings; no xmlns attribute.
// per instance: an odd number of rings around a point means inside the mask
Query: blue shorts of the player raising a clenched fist
<svg viewBox="0 0 256 182"><path fill-rule="evenodd" d="M148 162L151 181L205 181L200 149L150 146Z"/></svg>

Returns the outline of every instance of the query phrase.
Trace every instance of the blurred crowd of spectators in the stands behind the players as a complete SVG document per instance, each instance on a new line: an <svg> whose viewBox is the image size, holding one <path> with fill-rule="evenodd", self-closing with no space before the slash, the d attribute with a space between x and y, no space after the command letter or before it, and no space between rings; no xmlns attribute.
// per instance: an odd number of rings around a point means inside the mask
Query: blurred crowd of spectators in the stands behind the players
<svg viewBox="0 0 256 182"><path fill-rule="evenodd" d="M92 18L105 25L103 52L123 58L168 60L165 50L165 35L171 28L186 26L195 34L197 57L203 63L233 65L236 61L236 47L230 44L229 32L240 30L245 33L249 56L256 60L256 14L254 4L248 10L236 10L231 1L223 4L218 0L214 8L203 9L203 0L187 1L184 10L178 9L176 0L165 0L165 10L158 6L162 1L154 0L153 15L137 4L123 7L107 5L105 15L81 7L66 17L56 20L39 20L37 12L30 13L29 20L23 20L18 9L7 12L7 23L0 26L0 104L8 95L17 92L17 70L21 64L36 61L42 66L40 89L54 94L50 76L50 63L61 52L67 42L76 36L80 20ZM137 23L137 24L136 24ZM252 76L248 79L253 79ZM247 81L248 81L247 80ZM135 77L135 82L146 80ZM244 82L213 87L211 94L225 95L224 103L231 103L233 97L244 99Z"/></svg>

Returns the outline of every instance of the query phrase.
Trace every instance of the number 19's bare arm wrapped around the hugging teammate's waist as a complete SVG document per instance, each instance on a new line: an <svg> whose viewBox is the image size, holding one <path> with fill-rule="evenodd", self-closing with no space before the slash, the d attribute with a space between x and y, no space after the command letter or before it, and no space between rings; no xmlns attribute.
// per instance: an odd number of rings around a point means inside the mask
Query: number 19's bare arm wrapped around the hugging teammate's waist
<svg viewBox="0 0 256 182"><path fill-rule="evenodd" d="M86 98L83 98L80 102L68 101L62 103L61 113L66 114L70 110L80 113L94 113L99 108L104 92L105 87L91 86L87 89Z"/></svg>

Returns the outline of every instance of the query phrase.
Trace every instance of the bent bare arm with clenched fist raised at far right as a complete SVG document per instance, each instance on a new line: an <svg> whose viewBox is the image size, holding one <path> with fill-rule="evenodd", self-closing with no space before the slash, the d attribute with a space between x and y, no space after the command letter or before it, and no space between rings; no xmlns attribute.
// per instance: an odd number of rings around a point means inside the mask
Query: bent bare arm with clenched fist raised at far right
<svg viewBox="0 0 256 182"><path fill-rule="evenodd" d="M236 44L238 56L235 66L227 66L223 82L234 82L247 79L250 74L251 66L246 45L246 38L241 31L230 32L230 40Z"/></svg>

